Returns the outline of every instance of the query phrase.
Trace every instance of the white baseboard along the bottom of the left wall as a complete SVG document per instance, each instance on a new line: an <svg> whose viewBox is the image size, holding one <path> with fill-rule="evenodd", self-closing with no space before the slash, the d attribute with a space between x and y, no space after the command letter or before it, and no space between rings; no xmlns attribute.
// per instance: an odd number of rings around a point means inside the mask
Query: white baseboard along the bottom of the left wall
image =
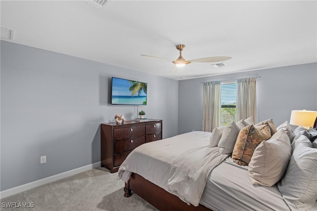
<svg viewBox="0 0 317 211"><path fill-rule="evenodd" d="M1 191L0 192L0 199L7 197L7 196L11 196L13 194L20 193L22 191L29 190L31 188L35 188L35 187L40 186L40 185L44 185L44 184L54 182L54 181L59 180L59 179L63 179L63 178L68 177L68 176L72 176L72 175L87 171L89 169L98 168L100 166L100 164L101 164L101 162L95 162L93 164L89 164L89 165L79 167L79 168L76 168L76 169L73 169L70 171L66 171L66 172L63 172L60 174L49 176L49 177L46 177L46 178L43 178L43 179L40 179L40 180L37 180L34 182L30 182L30 183L27 183L24 185L20 185L20 186L14 187L14 188L10 188L10 189Z"/></svg>

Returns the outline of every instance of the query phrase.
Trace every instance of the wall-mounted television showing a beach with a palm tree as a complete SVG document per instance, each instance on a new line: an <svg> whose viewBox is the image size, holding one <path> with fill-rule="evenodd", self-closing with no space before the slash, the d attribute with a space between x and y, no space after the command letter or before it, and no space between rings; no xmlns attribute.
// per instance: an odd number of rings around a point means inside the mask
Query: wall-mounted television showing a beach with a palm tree
<svg viewBox="0 0 317 211"><path fill-rule="evenodd" d="M146 106L147 91L147 83L112 77L111 104Z"/></svg>

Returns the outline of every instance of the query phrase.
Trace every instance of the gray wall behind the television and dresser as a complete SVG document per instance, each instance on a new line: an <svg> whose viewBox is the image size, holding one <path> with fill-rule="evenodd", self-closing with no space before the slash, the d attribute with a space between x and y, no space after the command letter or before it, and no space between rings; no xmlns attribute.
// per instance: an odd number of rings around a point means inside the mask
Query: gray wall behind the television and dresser
<svg viewBox="0 0 317 211"><path fill-rule="evenodd" d="M5 41L1 47L1 191L100 161L100 123L136 107L109 105L111 77L148 83L146 117L177 135L178 81ZM168 103L166 103L168 102ZM40 164L40 156L47 163Z"/></svg>

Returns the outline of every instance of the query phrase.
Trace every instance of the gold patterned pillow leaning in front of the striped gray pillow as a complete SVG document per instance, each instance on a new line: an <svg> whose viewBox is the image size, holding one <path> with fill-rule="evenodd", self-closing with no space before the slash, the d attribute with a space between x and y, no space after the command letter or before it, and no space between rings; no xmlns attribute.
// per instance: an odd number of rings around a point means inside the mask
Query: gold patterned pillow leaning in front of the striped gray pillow
<svg viewBox="0 0 317 211"><path fill-rule="evenodd" d="M240 130L232 152L232 159L239 165L248 165L258 145L271 137L268 124L248 125Z"/></svg>

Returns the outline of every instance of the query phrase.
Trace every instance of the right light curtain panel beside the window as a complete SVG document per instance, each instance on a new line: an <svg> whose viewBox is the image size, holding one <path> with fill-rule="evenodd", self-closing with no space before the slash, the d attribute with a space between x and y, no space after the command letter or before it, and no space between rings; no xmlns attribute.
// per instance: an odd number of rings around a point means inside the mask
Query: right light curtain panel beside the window
<svg viewBox="0 0 317 211"><path fill-rule="evenodd" d="M257 78L237 80L237 121L253 117L257 122Z"/></svg>

